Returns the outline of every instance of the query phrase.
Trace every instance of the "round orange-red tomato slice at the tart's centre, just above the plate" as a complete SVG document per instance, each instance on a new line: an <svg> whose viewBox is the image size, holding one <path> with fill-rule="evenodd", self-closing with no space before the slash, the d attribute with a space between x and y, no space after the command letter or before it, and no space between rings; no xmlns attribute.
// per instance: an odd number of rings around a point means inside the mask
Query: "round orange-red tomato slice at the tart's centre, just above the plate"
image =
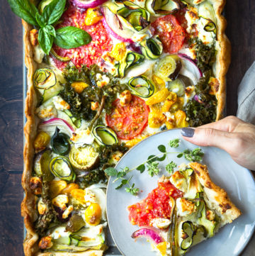
<svg viewBox="0 0 255 256"><path fill-rule="evenodd" d="M113 111L106 115L106 123L118 138L132 140L147 126L148 115L149 107L145 101L132 95L132 100L125 106L120 105L120 99L113 101Z"/></svg>

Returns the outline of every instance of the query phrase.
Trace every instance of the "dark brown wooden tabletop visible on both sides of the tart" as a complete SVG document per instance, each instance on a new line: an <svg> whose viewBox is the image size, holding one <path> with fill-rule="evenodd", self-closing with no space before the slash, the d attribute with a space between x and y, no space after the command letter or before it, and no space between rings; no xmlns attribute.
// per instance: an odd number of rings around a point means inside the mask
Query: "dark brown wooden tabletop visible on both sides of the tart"
<svg viewBox="0 0 255 256"><path fill-rule="evenodd" d="M0 0L0 255L23 255L23 42L21 20ZM237 87L255 60L255 1L228 0L227 36L232 64L227 74L227 115L237 111ZM255 221L255 220L254 220ZM222 241L224 243L224 241ZM255 255L255 235L242 256Z"/></svg>

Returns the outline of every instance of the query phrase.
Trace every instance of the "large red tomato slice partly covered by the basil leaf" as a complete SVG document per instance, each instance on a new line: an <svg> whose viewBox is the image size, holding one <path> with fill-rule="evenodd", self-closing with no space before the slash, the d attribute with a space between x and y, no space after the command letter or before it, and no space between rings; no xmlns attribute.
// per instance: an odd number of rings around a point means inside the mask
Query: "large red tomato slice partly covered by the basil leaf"
<svg viewBox="0 0 255 256"><path fill-rule="evenodd" d="M81 11L74 6L69 6L69 9L67 9L61 17L62 23L56 26L56 28L75 26L85 30L91 35L91 43L80 46L79 48L63 49L57 45L53 46L57 55L71 58L71 61L76 67L81 67L81 65L90 66L101 62L103 52L111 51L113 48L112 40L104 28L103 22L98 21L94 25L86 26L85 17L86 11ZM54 57L53 60L55 65L60 69L67 65L67 62L62 62Z"/></svg>

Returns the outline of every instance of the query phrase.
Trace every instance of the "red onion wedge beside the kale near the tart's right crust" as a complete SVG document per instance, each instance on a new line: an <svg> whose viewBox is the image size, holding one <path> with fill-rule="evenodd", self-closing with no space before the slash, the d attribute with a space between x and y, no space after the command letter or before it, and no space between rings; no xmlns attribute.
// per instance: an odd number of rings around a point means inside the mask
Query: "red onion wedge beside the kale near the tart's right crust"
<svg viewBox="0 0 255 256"><path fill-rule="evenodd" d="M200 71L196 63L193 60L191 60L190 57L183 55L181 53L179 53L178 56L181 58L183 64L180 74L190 78L194 85L198 84L198 81L200 77L203 76L203 73Z"/></svg>

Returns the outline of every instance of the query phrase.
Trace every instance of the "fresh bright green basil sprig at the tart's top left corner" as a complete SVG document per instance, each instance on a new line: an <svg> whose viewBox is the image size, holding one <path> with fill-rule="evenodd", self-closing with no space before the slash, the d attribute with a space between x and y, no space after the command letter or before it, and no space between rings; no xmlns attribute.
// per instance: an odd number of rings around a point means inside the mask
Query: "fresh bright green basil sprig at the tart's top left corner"
<svg viewBox="0 0 255 256"><path fill-rule="evenodd" d="M66 0L52 0L40 14L29 0L7 0L11 10L27 23L39 28L38 42L48 55L53 42L64 49L77 48L91 42L91 36L81 28L67 26L55 30L54 23L64 12Z"/></svg>

